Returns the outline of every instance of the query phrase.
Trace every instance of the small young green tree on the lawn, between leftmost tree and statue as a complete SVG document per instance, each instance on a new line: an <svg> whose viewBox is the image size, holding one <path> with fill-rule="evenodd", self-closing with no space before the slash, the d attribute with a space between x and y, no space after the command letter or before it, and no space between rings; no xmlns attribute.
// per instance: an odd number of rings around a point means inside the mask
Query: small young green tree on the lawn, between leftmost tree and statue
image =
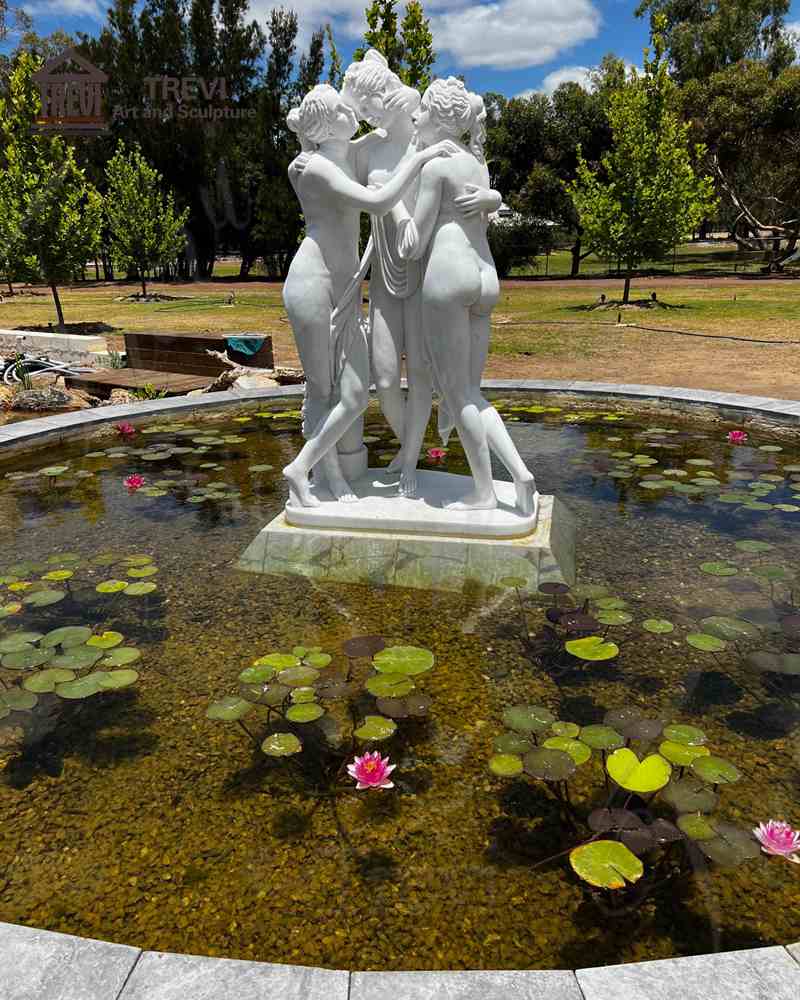
<svg viewBox="0 0 800 1000"><path fill-rule="evenodd" d="M183 227L189 209L176 214L172 193L162 192L161 174L144 159L139 146L126 153L120 142L106 176L111 257L125 270L136 268L146 296L145 272L163 267L186 247Z"/></svg>

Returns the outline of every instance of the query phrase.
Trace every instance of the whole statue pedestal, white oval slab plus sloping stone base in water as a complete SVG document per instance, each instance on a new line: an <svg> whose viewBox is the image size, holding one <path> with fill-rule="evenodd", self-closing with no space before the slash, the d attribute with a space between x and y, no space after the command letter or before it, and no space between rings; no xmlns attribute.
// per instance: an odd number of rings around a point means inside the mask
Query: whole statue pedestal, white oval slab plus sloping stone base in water
<svg viewBox="0 0 800 1000"><path fill-rule="evenodd" d="M560 500L540 498L532 531L531 519L513 509L511 483L495 483L495 511L439 506L443 496L454 499L470 486L467 477L423 471L422 498L402 500L391 477L371 472L355 484L357 504L287 507L259 532L237 568L424 590L497 586L509 576L524 579L528 591L546 581L574 583L575 519Z"/></svg>

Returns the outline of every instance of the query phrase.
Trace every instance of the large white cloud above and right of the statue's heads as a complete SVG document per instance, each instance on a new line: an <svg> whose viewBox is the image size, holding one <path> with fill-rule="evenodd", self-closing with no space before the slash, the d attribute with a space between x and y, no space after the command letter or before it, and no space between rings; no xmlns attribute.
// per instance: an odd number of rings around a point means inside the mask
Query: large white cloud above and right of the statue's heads
<svg viewBox="0 0 800 1000"><path fill-rule="evenodd" d="M541 66L595 38L600 12L591 0L496 0L429 5L434 46L459 66Z"/></svg>

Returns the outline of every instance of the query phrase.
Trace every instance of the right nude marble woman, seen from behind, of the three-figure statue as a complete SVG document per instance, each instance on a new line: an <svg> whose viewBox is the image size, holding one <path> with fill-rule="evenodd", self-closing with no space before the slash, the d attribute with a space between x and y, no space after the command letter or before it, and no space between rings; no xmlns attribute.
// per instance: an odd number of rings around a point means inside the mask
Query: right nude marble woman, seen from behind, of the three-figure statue
<svg viewBox="0 0 800 1000"><path fill-rule="evenodd" d="M497 506L491 453L506 466L524 514L538 513L539 494L500 415L480 392L492 309L500 294L497 271L486 239L485 214L464 218L455 200L467 185L488 184L480 134L483 102L455 77L435 80L415 116L420 146L445 137L472 135L472 148L459 142L447 166L429 163L420 175L413 218L399 227L403 257L425 257L422 327L425 349L448 413L467 454L473 491L450 506L484 510ZM476 155L477 154L477 155Z"/></svg>

